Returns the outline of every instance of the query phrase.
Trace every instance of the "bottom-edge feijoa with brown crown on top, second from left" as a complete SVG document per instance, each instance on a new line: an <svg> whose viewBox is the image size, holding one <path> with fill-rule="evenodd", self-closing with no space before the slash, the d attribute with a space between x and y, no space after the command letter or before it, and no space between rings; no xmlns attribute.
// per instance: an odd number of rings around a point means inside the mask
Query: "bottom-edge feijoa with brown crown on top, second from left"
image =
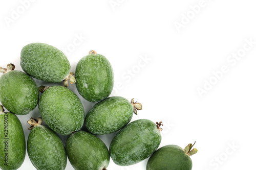
<svg viewBox="0 0 256 170"><path fill-rule="evenodd" d="M38 120L30 118L32 125L27 142L29 159L37 170L64 170L67 165L65 147L59 136Z"/></svg>

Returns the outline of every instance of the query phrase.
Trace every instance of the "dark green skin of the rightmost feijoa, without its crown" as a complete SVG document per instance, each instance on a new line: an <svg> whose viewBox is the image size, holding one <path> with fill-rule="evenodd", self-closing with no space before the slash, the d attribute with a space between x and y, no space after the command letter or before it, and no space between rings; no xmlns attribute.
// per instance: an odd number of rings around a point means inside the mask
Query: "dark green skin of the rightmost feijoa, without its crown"
<svg viewBox="0 0 256 170"><path fill-rule="evenodd" d="M148 159L146 170L191 170L192 161L177 145L165 145Z"/></svg>

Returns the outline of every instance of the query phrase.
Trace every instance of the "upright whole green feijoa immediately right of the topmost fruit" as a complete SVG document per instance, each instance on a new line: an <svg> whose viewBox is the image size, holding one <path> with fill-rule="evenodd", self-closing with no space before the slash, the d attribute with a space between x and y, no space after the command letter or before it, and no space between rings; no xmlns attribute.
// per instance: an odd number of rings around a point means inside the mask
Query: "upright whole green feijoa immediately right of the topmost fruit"
<svg viewBox="0 0 256 170"><path fill-rule="evenodd" d="M108 98L114 87L114 74L108 59L90 51L79 60L75 71L76 88L89 102Z"/></svg>

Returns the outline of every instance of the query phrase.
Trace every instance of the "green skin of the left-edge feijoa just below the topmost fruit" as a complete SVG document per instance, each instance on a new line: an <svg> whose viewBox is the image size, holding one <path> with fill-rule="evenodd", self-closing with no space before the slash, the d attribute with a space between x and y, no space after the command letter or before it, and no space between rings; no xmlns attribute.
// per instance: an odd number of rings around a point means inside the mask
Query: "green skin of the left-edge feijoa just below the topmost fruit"
<svg viewBox="0 0 256 170"><path fill-rule="evenodd" d="M6 72L0 78L0 101L15 114L28 114L38 103L39 92L35 81L19 70Z"/></svg>

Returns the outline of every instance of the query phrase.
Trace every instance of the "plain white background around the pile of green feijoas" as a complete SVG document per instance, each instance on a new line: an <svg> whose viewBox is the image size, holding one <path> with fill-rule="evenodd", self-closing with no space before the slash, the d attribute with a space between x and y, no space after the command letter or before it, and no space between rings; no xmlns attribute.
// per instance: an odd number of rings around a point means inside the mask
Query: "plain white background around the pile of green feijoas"
<svg viewBox="0 0 256 170"><path fill-rule="evenodd" d="M23 46L42 42L65 51L75 71L79 59L95 50L112 64L112 95L142 103L143 109L132 121L163 122L160 147L184 148L197 141L198 153L191 156L194 170L253 169L253 2L1 1L0 64L13 63L22 70ZM69 88L77 93L75 85ZM79 98L87 113L94 103ZM38 116L38 108L18 116L26 138L27 120ZM109 147L114 134L99 137ZM111 160L108 169L145 169L147 160L130 167ZM19 169L35 168L26 156ZM66 169L73 169L69 162Z"/></svg>

